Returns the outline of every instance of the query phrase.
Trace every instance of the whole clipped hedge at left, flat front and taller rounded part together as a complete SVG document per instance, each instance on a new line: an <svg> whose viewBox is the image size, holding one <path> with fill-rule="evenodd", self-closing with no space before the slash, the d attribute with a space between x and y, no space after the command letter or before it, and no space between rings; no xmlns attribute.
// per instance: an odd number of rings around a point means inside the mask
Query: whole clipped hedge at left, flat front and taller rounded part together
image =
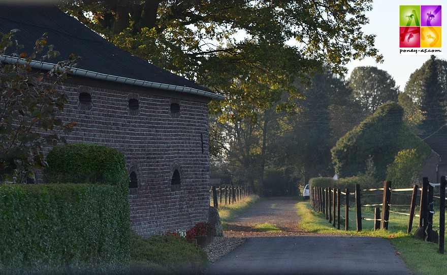
<svg viewBox="0 0 447 275"><path fill-rule="evenodd" d="M129 177L122 153L73 144L48 156L46 184L0 186L0 273L128 265Z"/></svg>

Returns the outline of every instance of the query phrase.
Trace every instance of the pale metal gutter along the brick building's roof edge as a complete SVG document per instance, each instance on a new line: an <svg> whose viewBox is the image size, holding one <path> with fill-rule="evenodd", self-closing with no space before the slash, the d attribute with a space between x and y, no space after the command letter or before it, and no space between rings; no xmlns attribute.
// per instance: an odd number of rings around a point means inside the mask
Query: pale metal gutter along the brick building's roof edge
<svg viewBox="0 0 447 275"><path fill-rule="evenodd" d="M56 66L56 64L53 64L53 63L34 61L34 60L31 60L28 62L22 58L6 56L6 55L0 55L0 62L7 62L7 63L18 62L19 64L28 64L32 68L43 69L43 70L48 70L48 71L50 71L54 66ZM145 81L145 80L138 80L138 79L132 79L132 78L126 78L126 77L107 75L107 74L97 73L97 72L88 71L88 70L84 70L84 69L80 69L80 68L74 68L74 67L70 68L70 71L75 76L87 77L87 78L92 78L92 79L112 81L112 82L141 86L141 87L146 87L146 88L196 94L196 95L210 97L210 98L218 99L218 100L225 98L225 96L223 96L223 95L219 95L219 94L215 94L215 93L207 92L207 91L202 91L202 90L190 88L190 87L182 87L182 86L171 85L171 84L164 84L164 83L158 83L158 82L151 82L151 81Z"/></svg>

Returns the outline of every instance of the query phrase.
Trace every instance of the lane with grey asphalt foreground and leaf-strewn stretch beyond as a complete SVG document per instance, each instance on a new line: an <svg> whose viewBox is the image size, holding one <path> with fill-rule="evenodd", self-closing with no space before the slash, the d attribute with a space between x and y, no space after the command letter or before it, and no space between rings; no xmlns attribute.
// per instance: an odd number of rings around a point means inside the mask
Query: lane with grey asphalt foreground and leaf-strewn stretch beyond
<svg viewBox="0 0 447 275"><path fill-rule="evenodd" d="M261 201L231 223L248 228L268 222L288 228L289 219L299 220L295 203L280 198ZM204 274L411 274L387 239L297 233L248 237L210 263Z"/></svg>

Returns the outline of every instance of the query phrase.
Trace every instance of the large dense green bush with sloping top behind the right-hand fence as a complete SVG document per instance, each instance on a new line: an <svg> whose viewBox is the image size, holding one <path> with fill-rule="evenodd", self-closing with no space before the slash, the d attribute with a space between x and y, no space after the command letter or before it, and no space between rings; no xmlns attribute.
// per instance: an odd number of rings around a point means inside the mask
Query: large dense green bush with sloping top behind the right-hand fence
<svg viewBox="0 0 447 275"><path fill-rule="evenodd" d="M427 145L409 131L402 118L403 109L389 102L341 137L331 150L337 174L341 177L363 174L370 160L376 169L376 179L385 179L387 165L399 151L427 150Z"/></svg>

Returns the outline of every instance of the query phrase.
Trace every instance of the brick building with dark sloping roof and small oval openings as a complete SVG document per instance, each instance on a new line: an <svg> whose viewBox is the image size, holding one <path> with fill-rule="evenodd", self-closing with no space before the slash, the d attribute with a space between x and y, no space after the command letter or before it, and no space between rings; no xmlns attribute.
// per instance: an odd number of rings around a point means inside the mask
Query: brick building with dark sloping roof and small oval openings
<svg viewBox="0 0 447 275"><path fill-rule="evenodd" d="M207 220L207 104L222 96L116 48L53 6L1 7L0 32L11 29L20 30L16 39L28 53L47 32L60 59L82 58L59 87L69 96L62 119L77 124L66 139L124 153L133 229L147 236ZM8 55L2 61L17 60Z"/></svg>

